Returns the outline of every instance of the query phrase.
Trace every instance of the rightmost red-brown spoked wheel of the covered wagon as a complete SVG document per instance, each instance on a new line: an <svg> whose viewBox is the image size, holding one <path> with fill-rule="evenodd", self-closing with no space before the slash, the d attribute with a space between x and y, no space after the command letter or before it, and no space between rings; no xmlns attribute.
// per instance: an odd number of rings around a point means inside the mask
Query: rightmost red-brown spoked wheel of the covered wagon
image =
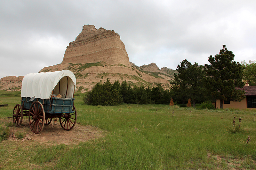
<svg viewBox="0 0 256 170"><path fill-rule="evenodd" d="M76 124L76 107L73 106L73 113L62 113L60 116L60 126L64 130L71 130Z"/></svg>

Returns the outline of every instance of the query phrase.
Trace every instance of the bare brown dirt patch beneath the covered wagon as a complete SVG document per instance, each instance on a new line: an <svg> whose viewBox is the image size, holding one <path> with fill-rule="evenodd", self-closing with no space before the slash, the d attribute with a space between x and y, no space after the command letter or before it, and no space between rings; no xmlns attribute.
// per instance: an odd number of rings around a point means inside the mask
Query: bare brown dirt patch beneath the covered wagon
<svg viewBox="0 0 256 170"><path fill-rule="evenodd" d="M11 122L12 120L8 119L4 120L4 122L5 121ZM8 140L20 140L18 139L17 134L23 134L23 140L36 141L40 144L44 143L46 145L78 144L80 142L97 139L106 135L106 132L100 130L99 128L93 126L82 126L79 123L76 123L72 130L67 131L61 128L59 122L54 125L53 121L49 125L44 125L44 129L40 132L40 134L31 132L27 120L22 122L20 127L12 126L9 128L11 135Z"/></svg>

